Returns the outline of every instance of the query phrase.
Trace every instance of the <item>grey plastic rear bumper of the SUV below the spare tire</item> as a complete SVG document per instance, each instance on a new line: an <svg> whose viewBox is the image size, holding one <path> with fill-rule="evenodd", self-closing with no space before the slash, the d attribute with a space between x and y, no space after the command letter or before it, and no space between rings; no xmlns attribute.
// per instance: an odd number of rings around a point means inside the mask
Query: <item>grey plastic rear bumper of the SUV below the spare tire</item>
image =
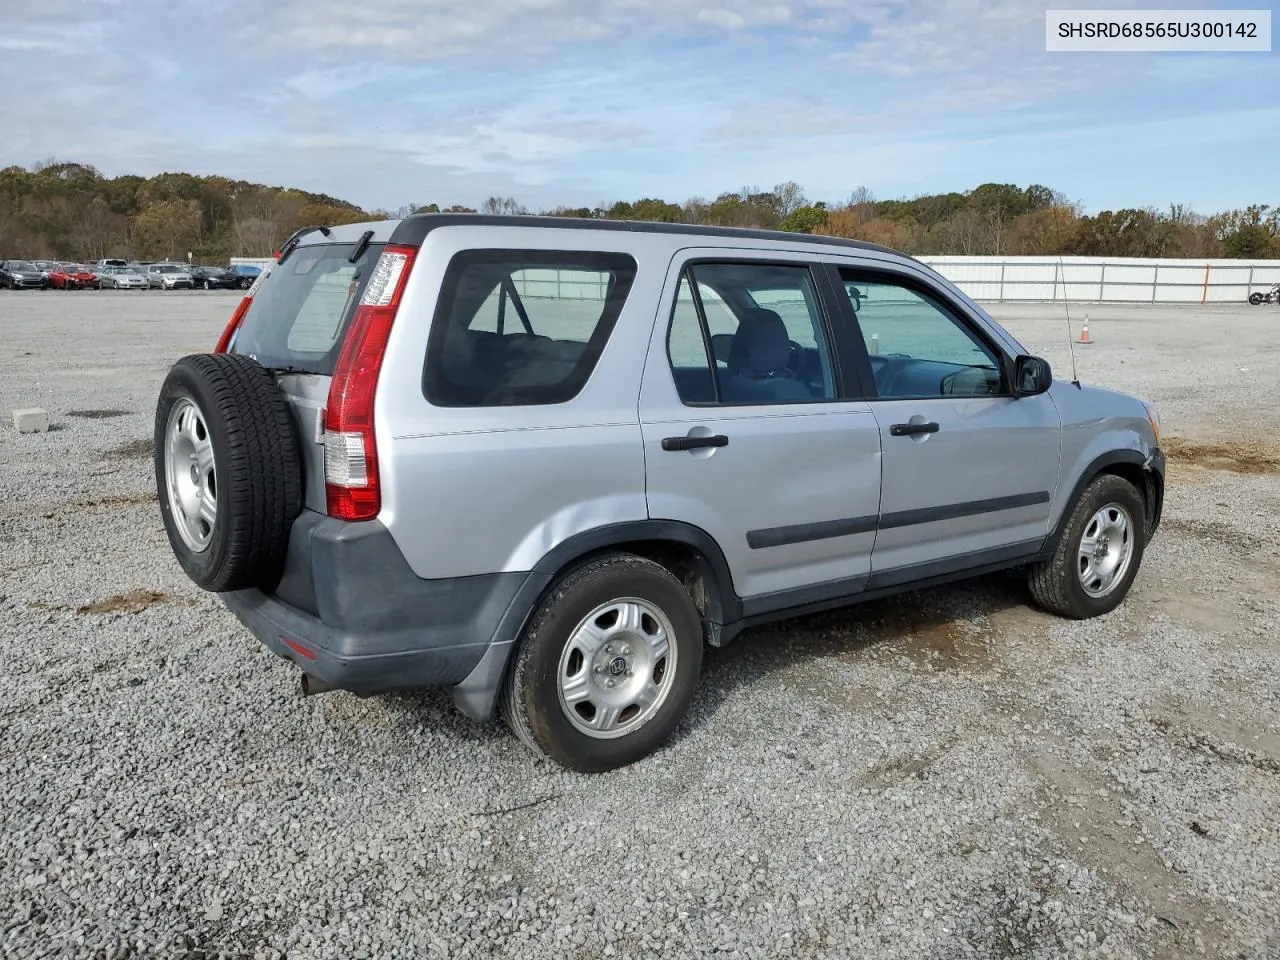
<svg viewBox="0 0 1280 960"><path fill-rule="evenodd" d="M463 685L480 695L465 712L483 718L541 582L532 573L422 580L380 522L303 511L276 590L221 598L271 652L326 684L361 695Z"/></svg>

